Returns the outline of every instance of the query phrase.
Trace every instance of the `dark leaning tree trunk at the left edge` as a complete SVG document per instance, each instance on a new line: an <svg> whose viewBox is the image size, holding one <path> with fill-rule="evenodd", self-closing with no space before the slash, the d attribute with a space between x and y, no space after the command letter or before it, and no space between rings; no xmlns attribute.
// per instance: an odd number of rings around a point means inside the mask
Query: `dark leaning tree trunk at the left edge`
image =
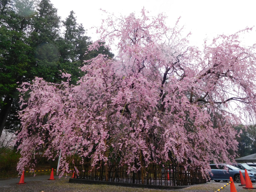
<svg viewBox="0 0 256 192"><path fill-rule="evenodd" d="M2 135L2 132L4 130L4 125L6 123L8 114L10 112L11 106L12 106L13 98L9 95L4 98L4 106L2 106L0 111L0 137Z"/></svg>

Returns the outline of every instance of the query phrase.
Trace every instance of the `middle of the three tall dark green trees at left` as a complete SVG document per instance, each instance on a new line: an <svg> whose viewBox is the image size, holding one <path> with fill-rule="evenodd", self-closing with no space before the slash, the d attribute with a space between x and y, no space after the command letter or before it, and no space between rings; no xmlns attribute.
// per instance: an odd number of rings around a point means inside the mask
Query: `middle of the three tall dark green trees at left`
<svg viewBox="0 0 256 192"><path fill-rule="evenodd" d="M33 18L33 31L30 36L30 46L34 48L35 55L31 72L33 76L43 77L49 82L56 82L59 79L57 40L60 38L60 26L57 9L49 0L42 0Z"/></svg>

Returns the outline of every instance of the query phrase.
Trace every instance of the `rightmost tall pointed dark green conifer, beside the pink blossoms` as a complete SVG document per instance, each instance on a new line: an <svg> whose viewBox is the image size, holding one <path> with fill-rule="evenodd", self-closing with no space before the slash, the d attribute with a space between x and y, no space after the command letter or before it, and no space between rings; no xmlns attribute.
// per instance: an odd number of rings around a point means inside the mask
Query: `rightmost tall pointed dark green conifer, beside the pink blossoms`
<svg viewBox="0 0 256 192"><path fill-rule="evenodd" d="M113 58L114 54L104 46L100 46L98 50L88 51L88 46L92 42L90 37L85 35L86 30L82 24L76 22L73 11L62 22L65 30L63 34L64 38L58 41L60 48L60 68L65 69L65 72L72 75L71 83L75 84L78 78L84 74L79 68L84 65L85 60L90 60L102 53L106 53Z"/></svg>

